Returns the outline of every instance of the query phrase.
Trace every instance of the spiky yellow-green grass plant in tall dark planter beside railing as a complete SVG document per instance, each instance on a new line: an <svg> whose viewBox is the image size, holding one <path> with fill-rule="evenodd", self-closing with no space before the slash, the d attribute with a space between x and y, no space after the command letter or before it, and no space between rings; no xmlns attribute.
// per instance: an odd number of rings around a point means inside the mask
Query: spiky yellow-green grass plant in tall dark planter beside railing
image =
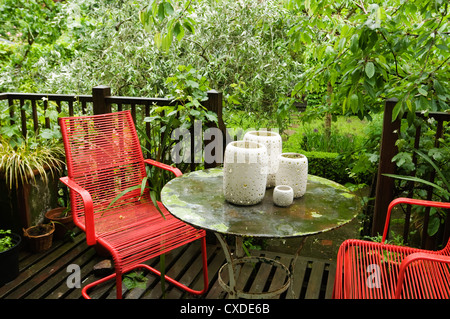
<svg viewBox="0 0 450 319"><path fill-rule="evenodd" d="M19 232L41 223L57 205L57 187L64 167L60 142L18 135L0 137L0 224Z"/></svg>

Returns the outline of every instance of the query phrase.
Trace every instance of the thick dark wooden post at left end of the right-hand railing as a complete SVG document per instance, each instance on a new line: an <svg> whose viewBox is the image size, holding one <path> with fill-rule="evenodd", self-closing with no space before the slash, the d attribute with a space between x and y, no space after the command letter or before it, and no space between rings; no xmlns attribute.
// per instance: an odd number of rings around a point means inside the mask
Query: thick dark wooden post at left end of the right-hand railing
<svg viewBox="0 0 450 319"><path fill-rule="evenodd" d="M383 174L395 174L395 163L392 158L398 149L395 142L400 130L400 117L392 121L392 111L397 99L388 99L385 102L383 117L383 133L381 136L380 162L378 164L378 175L375 195L375 206L372 221L372 236L382 234L389 203L394 196L394 179L383 176Z"/></svg>

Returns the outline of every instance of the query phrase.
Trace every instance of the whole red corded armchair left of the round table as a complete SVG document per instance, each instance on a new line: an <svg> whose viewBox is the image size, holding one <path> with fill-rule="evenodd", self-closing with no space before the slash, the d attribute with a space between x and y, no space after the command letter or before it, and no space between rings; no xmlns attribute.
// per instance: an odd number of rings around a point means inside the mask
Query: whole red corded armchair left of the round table
<svg viewBox="0 0 450 319"><path fill-rule="evenodd" d="M201 240L204 289L192 290L166 276L166 280L192 294L208 288L205 231L197 230L173 217L161 203L157 210L148 189L141 196L140 187L111 202L124 190L141 185L146 176L145 163L171 171L181 171L154 160L144 160L129 111L104 115L60 118L66 150L67 177L61 181L70 189L75 224L86 232L88 245L99 244L113 257L115 273L85 286L87 290L116 278L117 298L122 298L122 275L143 264L195 240Z"/></svg>

